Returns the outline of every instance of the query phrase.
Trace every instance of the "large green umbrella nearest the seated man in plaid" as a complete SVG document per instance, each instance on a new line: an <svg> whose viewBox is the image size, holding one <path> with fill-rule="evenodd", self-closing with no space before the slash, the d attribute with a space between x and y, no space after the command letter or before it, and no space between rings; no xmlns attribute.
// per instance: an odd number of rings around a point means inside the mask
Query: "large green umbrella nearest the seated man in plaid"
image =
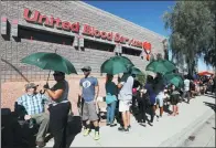
<svg viewBox="0 0 216 148"><path fill-rule="evenodd" d="M37 52L21 60L22 63L35 65L42 70L60 71L66 74L77 74L74 65L56 53Z"/></svg>

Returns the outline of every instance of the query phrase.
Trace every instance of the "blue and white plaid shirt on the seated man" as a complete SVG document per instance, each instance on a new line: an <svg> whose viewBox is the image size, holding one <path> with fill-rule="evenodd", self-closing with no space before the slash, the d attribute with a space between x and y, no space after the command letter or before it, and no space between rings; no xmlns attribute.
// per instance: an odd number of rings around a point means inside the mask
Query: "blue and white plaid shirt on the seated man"
<svg viewBox="0 0 216 148"><path fill-rule="evenodd" d="M40 93L34 95L24 94L18 98L18 104L22 105L28 115L35 115L44 113L44 105L48 102L48 98L45 95Z"/></svg>

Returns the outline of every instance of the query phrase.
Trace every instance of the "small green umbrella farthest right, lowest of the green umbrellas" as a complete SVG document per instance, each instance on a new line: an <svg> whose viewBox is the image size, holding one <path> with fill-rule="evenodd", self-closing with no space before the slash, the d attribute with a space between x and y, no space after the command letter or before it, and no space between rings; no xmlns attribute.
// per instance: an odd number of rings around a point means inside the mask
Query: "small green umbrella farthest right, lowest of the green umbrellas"
<svg viewBox="0 0 216 148"><path fill-rule="evenodd" d="M176 87L182 87L184 85L183 77L175 73L169 73L164 75L164 78L175 85Z"/></svg>

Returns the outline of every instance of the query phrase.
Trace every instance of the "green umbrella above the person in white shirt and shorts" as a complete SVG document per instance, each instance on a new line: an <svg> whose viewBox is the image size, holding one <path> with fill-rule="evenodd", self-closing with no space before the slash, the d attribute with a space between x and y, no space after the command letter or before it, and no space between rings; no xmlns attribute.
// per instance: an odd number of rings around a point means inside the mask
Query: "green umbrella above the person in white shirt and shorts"
<svg viewBox="0 0 216 148"><path fill-rule="evenodd" d="M100 72L112 75L127 73L130 66L133 66L133 64L128 57L114 56L102 63L102 65L100 66Z"/></svg>

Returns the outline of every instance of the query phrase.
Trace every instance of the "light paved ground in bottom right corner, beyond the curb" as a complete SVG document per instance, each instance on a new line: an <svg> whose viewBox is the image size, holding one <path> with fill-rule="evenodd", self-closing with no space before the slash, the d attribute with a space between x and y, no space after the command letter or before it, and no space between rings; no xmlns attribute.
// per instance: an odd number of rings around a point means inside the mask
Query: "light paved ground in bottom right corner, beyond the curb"
<svg viewBox="0 0 216 148"><path fill-rule="evenodd" d="M180 147L215 147L215 115L191 134Z"/></svg>

